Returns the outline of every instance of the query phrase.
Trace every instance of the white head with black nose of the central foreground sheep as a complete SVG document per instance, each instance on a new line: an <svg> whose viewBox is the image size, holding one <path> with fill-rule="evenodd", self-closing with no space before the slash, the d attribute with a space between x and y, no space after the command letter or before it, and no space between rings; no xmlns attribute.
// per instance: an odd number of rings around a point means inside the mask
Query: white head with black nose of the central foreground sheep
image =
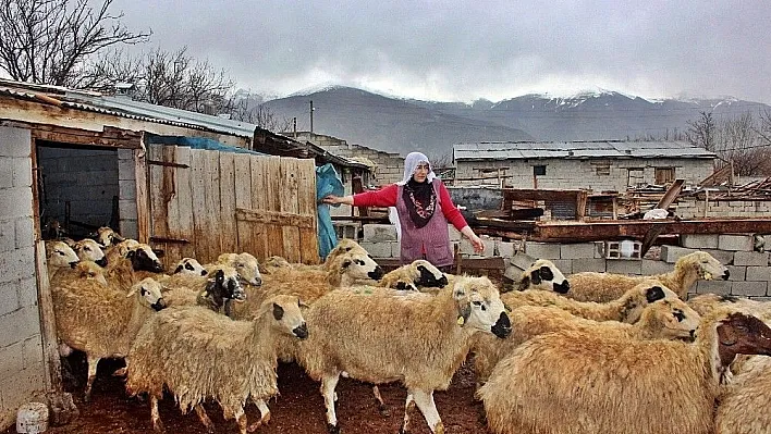
<svg viewBox="0 0 771 434"><path fill-rule="evenodd" d="M501 296L489 278L458 277L453 287L453 298L460 326L492 333L500 338L512 332Z"/></svg>

